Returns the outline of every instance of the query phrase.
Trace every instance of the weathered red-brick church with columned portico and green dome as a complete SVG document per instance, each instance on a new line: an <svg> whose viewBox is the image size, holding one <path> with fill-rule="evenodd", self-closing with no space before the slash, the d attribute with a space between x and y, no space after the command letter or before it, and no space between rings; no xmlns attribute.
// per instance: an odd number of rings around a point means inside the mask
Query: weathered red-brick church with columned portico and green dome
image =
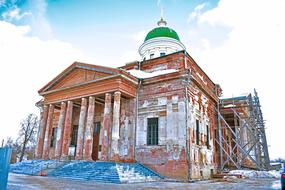
<svg viewBox="0 0 285 190"><path fill-rule="evenodd" d="M119 68L74 62L38 92L37 159L139 162L162 176L205 179L222 92L160 19Z"/></svg>

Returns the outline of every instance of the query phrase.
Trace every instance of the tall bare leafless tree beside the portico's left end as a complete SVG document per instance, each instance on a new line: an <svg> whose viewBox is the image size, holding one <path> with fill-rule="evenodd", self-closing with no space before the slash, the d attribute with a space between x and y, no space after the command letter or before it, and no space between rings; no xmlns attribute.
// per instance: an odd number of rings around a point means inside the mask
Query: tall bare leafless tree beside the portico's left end
<svg viewBox="0 0 285 190"><path fill-rule="evenodd" d="M38 116L35 114L29 114L26 119L21 122L21 128L19 131L19 137L16 144L19 144L18 149L19 161L23 160L24 155L26 154L27 149L34 149L36 142L36 134L38 130L39 120Z"/></svg>

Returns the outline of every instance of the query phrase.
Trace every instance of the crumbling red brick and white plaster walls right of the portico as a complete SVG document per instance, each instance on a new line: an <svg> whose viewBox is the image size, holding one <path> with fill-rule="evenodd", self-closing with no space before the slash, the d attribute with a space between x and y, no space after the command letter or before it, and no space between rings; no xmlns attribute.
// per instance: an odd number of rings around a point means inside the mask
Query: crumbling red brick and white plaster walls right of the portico
<svg viewBox="0 0 285 190"><path fill-rule="evenodd" d="M137 159L168 177L209 178L217 168L213 159L216 85L184 52L149 60L141 69L176 69L179 73L142 81L138 91ZM148 118L159 121L155 146L147 144Z"/></svg>

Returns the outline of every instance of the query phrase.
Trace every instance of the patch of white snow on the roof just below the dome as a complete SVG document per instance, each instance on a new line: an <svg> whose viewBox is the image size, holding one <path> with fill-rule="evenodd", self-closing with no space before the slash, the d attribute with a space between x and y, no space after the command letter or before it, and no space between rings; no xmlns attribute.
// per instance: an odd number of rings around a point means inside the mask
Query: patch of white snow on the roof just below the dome
<svg viewBox="0 0 285 190"><path fill-rule="evenodd" d="M142 71L142 70L128 70L127 72L130 73L131 75L133 75L136 78L140 78L140 79L145 79L145 78L152 78L152 77L156 77L159 75L165 75L165 74L169 74L169 73L175 73L178 70L176 69L166 69L166 70L160 70L160 71L154 71L151 73Z"/></svg>

